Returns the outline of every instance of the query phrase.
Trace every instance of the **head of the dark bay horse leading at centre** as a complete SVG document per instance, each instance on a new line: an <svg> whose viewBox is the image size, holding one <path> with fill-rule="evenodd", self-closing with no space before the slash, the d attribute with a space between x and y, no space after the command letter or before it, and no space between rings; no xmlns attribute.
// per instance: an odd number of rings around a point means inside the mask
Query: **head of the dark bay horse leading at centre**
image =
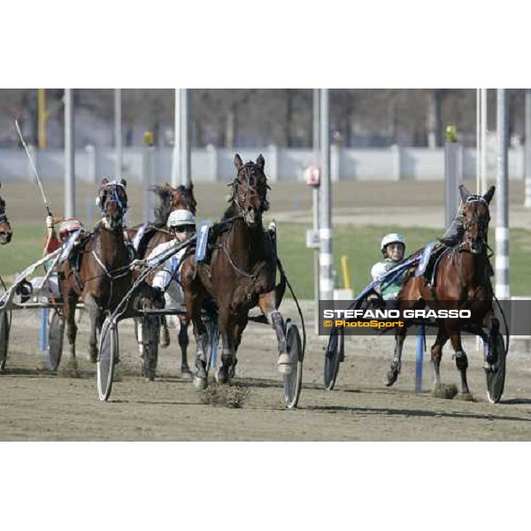
<svg viewBox="0 0 531 531"><path fill-rule="evenodd" d="M262 155L258 155L256 162L249 161L245 164L237 153L235 155L238 173L230 184L233 187L230 201L249 227L254 227L261 219L262 213L269 209L267 190L270 188L264 173L265 165L266 161Z"/></svg>

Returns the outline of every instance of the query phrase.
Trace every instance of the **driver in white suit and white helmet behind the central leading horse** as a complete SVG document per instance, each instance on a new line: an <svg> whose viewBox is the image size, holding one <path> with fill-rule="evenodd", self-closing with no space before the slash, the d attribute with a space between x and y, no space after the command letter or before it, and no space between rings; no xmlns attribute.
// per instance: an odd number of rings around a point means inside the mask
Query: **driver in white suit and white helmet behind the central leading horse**
<svg viewBox="0 0 531 531"><path fill-rule="evenodd" d="M192 212L187 210L176 210L170 213L166 226L172 235L169 242L160 243L150 252L146 259L148 265L153 263L159 256L166 251L181 245L196 232L196 218ZM183 248L173 256L165 260L159 267L153 277L153 288L161 289L165 292L165 308L178 307L182 301L181 286L178 282L179 267L181 258L184 256L187 248Z"/></svg>

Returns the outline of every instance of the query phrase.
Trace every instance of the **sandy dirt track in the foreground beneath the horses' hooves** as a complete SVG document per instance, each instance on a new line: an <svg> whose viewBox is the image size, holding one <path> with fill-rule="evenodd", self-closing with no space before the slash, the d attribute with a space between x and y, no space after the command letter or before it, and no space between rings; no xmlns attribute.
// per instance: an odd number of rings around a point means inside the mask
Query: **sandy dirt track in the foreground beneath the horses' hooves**
<svg viewBox="0 0 531 531"><path fill-rule="evenodd" d="M295 317L286 302L284 313ZM304 303L312 328L312 305ZM38 315L13 317L6 373L0 376L2 441L529 441L531 440L531 359L512 350L502 404L486 401L481 355L466 340L469 384L474 401L435 398L430 393L427 357L423 392L415 395L415 340L406 340L399 380L387 389L391 338L347 338L347 358L336 389L322 389L324 338L309 331L304 389L296 411L281 401L281 377L275 370L273 330L250 324L239 354L239 377L230 392L242 391L240 408L204 404L204 395L179 376L176 333L160 350L159 377L140 376L133 328L119 327L118 381L108 403L96 394L95 366L85 359L88 316L81 319L77 377L66 358L58 374L44 369L38 351ZM429 338L428 338L429 344ZM193 351L194 342L190 343ZM443 381L458 383L458 372L445 350ZM215 385L215 384L214 384ZM217 389L217 394L228 393Z"/></svg>

